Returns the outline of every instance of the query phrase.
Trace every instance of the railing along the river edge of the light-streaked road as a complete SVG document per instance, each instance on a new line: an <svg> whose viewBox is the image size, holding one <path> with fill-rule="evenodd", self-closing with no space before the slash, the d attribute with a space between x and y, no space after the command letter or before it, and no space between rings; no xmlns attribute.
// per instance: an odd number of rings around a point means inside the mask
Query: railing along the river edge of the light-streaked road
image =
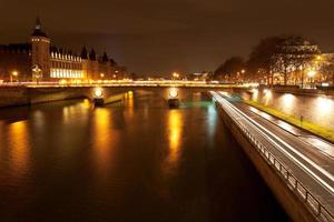
<svg viewBox="0 0 334 222"><path fill-rule="evenodd" d="M222 107L224 109L224 107ZM224 109L225 110L225 109ZM248 141L257 149L259 154L264 160L271 165L281 179L286 183L291 191L293 191L302 202L306 204L308 209L312 210L314 215L324 222L333 222L334 215L330 210L321 203L318 198L314 195L310 189L307 189L303 183L291 172L291 170L283 164L265 145L263 145L249 131L248 129L238 121L234 115L232 115L235 124L243 131L244 135Z"/></svg>

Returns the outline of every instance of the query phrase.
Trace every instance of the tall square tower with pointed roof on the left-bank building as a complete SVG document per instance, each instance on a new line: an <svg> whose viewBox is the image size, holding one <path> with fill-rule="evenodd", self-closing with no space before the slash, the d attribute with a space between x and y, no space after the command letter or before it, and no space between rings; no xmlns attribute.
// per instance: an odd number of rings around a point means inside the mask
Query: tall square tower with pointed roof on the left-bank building
<svg viewBox="0 0 334 222"><path fill-rule="evenodd" d="M42 31L40 19L37 18L35 30L31 34L31 63L41 70L43 79L50 78L50 39Z"/></svg>

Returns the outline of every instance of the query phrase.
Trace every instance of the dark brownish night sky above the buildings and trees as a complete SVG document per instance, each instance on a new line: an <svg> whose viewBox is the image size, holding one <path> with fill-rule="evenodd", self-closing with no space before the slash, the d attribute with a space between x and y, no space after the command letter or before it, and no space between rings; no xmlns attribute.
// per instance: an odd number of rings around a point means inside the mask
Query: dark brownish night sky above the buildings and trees
<svg viewBox="0 0 334 222"><path fill-rule="evenodd" d="M1 0L0 6L0 43L27 41L39 14L53 44L107 50L139 74L215 70L272 34L303 34L334 51L333 0Z"/></svg>

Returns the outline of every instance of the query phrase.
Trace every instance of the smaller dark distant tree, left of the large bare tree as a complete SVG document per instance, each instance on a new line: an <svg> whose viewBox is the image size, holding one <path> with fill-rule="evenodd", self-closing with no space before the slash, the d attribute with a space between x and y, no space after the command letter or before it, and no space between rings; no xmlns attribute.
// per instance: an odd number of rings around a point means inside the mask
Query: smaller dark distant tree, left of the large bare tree
<svg viewBox="0 0 334 222"><path fill-rule="evenodd" d="M215 72L215 78L232 79L237 75L245 67L244 59L240 57L232 57L227 59Z"/></svg>

